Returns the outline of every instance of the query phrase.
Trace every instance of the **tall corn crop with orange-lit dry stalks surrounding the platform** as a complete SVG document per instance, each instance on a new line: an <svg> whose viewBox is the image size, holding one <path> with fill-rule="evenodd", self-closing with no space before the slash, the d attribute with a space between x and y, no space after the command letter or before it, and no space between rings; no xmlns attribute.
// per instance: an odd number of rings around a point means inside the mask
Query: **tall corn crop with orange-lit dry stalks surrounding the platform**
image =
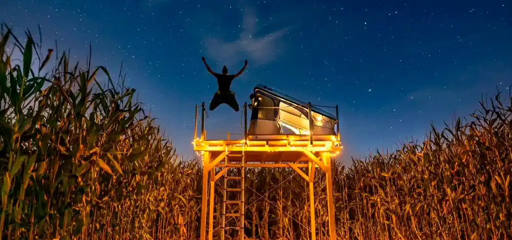
<svg viewBox="0 0 512 240"><path fill-rule="evenodd" d="M123 78L114 84L106 68L89 60L80 69L57 54L42 75L54 51L43 54L29 31L22 44L4 25L2 239L197 239L201 162L178 160ZM498 93L471 121L431 127L423 142L354 159L350 168L334 164L338 239L512 238L510 103ZM315 186L315 231L327 239L323 174ZM292 169L248 169L246 236L310 239L307 187ZM220 216L214 220L219 226Z"/></svg>

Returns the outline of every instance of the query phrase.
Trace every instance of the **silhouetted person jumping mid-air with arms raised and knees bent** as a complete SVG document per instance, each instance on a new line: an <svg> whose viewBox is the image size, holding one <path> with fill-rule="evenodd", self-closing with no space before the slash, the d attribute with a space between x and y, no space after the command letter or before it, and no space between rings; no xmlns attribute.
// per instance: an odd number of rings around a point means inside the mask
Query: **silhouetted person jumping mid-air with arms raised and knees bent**
<svg viewBox="0 0 512 240"><path fill-rule="evenodd" d="M211 70L204 57L202 57L202 59L204 66L206 66L208 72L217 78L217 83L219 85L219 90L217 90L217 92L214 94L214 98L210 101L210 111L215 110L215 108L217 108L222 103L228 104L231 108L233 108L235 112L240 111L237 99L234 97L234 92L229 88L231 86L231 81L233 81L234 78L240 76L244 72L245 68L247 67L247 60L245 60L244 67L237 74L228 75L226 66L222 68L222 74L218 74Z"/></svg>

